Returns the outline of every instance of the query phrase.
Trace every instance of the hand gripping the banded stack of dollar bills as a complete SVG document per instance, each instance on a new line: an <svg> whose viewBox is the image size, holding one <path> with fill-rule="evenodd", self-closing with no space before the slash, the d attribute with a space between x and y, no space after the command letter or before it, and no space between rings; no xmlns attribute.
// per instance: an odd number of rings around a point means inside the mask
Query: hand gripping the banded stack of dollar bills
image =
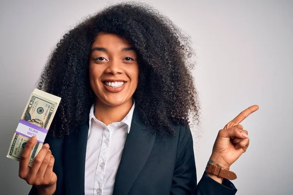
<svg viewBox="0 0 293 195"><path fill-rule="evenodd" d="M30 154L37 143L37 137L31 137L23 148L19 176L28 184L35 185L38 194L53 195L56 191L57 176L53 172L54 157L49 150L49 144L44 144L35 157L32 168L28 166Z"/></svg>

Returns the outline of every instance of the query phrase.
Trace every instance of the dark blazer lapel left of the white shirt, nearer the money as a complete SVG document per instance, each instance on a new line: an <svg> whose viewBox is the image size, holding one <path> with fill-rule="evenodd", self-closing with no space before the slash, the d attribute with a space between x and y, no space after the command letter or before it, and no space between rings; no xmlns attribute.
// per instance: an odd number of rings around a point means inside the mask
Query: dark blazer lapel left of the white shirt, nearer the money
<svg viewBox="0 0 293 195"><path fill-rule="evenodd" d="M84 195L84 168L88 123L65 138L64 187L67 195Z"/></svg>

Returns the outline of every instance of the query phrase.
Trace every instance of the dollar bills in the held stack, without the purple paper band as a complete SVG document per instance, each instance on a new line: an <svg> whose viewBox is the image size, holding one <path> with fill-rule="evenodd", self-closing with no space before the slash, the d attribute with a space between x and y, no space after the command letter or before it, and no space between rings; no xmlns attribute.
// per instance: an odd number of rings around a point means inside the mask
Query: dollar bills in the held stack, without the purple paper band
<svg viewBox="0 0 293 195"><path fill-rule="evenodd" d="M57 96L35 89L26 104L21 119L48 130L60 101L61 98ZM32 136L33 134L21 135L15 132L9 146L7 157L20 161L22 150ZM42 145L42 143L37 142L34 146L30 154L30 167L33 164L34 158L41 150Z"/></svg>

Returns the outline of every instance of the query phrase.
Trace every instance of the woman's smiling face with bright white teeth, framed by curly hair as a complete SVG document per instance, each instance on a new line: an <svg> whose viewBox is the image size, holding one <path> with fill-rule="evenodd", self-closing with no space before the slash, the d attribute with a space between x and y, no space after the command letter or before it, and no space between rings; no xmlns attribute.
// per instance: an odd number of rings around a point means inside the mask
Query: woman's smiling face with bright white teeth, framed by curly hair
<svg viewBox="0 0 293 195"><path fill-rule="evenodd" d="M138 84L137 56L126 39L100 33L92 44L89 80L97 101L108 106L132 102Z"/></svg>

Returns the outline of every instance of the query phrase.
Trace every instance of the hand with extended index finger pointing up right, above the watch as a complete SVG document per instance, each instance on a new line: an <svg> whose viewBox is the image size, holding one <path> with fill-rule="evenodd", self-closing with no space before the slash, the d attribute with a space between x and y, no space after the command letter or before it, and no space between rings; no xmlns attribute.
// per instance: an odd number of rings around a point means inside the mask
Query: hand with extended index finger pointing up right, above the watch
<svg viewBox="0 0 293 195"><path fill-rule="evenodd" d="M243 130L243 126L239 123L256 110L258 110L257 105L249 107L219 131L209 158L214 161L214 164L229 168L246 152L249 146L248 132Z"/></svg>

